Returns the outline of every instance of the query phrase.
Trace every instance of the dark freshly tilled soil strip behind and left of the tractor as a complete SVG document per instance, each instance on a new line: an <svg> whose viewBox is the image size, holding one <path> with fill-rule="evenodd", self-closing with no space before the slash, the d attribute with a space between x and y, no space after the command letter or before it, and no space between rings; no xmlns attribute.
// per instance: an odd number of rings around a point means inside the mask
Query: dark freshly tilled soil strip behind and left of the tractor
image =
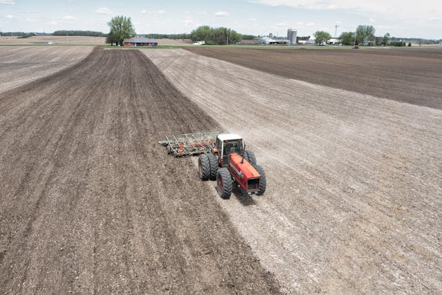
<svg viewBox="0 0 442 295"><path fill-rule="evenodd" d="M95 50L0 111L2 293L278 291L192 159L157 143L219 125L139 51Z"/></svg>

